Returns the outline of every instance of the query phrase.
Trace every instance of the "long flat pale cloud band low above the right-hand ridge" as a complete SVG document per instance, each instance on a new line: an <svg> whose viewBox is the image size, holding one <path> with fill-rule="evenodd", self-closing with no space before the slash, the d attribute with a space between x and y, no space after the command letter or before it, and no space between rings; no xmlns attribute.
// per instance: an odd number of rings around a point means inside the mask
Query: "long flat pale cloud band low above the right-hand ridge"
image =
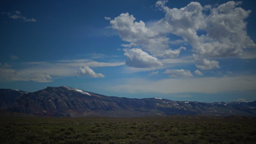
<svg viewBox="0 0 256 144"><path fill-rule="evenodd" d="M237 77L187 77L148 81L145 79L122 79L106 89L120 93L203 93L217 94L256 90L256 75Z"/></svg>

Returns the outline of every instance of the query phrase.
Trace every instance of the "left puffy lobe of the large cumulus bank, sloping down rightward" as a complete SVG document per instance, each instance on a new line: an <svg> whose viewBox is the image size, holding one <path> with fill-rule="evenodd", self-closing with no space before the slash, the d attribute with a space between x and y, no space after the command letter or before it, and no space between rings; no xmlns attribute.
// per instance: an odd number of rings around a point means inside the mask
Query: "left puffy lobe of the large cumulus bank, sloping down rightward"
<svg viewBox="0 0 256 144"><path fill-rule="evenodd" d="M170 39L168 37L153 28L146 27L143 21L134 21L134 16L129 15L128 12L110 21L111 27L117 30L121 39L130 43L122 46L142 48L153 56L169 49Z"/></svg>

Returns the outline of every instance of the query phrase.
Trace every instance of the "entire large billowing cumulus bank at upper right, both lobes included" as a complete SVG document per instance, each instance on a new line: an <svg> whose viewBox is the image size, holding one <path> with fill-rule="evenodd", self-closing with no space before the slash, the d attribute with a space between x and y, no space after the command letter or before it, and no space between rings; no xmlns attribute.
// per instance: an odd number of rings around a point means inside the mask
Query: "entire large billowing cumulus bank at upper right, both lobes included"
<svg viewBox="0 0 256 144"><path fill-rule="evenodd" d="M202 6L190 2L183 8L169 8L167 0L156 2L165 16L158 22L145 24L135 21L128 12L110 21L112 29L128 44L126 48L140 48L156 58L176 58L184 47L171 49L171 44L187 42L198 56L196 67L201 70L219 68L214 58L255 58L256 44L247 35L245 19L251 13L239 7L242 2L229 1L221 5ZM170 40L168 34L181 39Z"/></svg>

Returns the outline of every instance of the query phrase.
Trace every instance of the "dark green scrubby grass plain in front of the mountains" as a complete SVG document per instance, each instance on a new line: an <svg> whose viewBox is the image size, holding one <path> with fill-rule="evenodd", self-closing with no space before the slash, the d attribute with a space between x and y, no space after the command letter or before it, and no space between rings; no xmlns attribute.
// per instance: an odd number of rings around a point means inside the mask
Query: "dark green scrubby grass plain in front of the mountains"
<svg viewBox="0 0 256 144"><path fill-rule="evenodd" d="M256 144L256 118L0 118L1 144Z"/></svg>

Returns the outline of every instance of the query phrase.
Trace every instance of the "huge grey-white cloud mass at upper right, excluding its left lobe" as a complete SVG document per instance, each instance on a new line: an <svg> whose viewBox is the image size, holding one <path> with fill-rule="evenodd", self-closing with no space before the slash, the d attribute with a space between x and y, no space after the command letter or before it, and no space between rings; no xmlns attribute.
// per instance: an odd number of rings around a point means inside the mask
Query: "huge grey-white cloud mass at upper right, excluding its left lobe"
<svg viewBox="0 0 256 144"><path fill-rule="evenodd" d="M240 57L245 49L256 47L247 35L244 21L251 11L237 7L241 2L229 1L218 7L202 7L198 2L191 2L181 9L170 9L165 6L166 2L156 4L159 10L166 12L158 23L188 41L200 57ZM203 14L203 11L210 11L210 14ZM199 30L207 34L198 36Z"/></svg>

